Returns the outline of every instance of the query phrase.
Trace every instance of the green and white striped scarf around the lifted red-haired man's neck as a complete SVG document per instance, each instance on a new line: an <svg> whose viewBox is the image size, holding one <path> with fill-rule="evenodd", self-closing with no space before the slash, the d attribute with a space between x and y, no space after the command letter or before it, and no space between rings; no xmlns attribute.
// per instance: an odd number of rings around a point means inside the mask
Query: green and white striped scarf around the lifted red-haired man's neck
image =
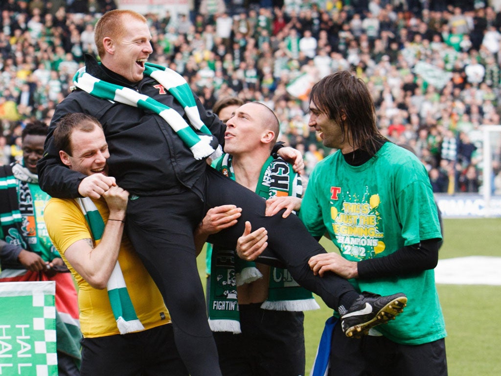
<svg viewBox="0 0 501 376"><path fill-rule="evenodd" d="M153 111L170 125L184 144L189 147L195 159L203 159L208 156L212 159L219 157L222 154L222 148L220 145L215 148L211 146L210 141L215 141L215 138L200 119L195 98L186 80L179 73L160 65L146 63L144 68L145 75L158 81L177 99L183 106L191 126L203 133L202 135L198 135L176 110L135 90L100 80L86 73L85 67L77 71L73 77L73 83L79 89L97 98Z"/></svg>

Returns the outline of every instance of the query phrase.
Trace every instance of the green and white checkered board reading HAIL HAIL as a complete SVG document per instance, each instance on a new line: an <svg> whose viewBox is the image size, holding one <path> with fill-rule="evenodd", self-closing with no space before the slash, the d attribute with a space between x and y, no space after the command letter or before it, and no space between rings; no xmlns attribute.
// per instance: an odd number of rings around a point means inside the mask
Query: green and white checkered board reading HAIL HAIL
<svg viewBox="0 0 501 376"><path fill-rule="evenodd" d="M56 283L0 283L0 375L57 376Z"/></svg>

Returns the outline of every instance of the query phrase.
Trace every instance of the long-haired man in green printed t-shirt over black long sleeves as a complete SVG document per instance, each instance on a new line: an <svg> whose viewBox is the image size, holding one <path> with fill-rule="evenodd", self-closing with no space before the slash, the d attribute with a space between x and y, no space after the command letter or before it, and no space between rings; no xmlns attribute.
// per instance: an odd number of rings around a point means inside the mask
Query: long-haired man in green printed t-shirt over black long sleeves
<svg viewBox="0 0 501 376"><path fill-rule="evenodd" d="M442 236L426 169L379 132L372 97L350 72L315 84L309 110L310 127L338 150L311 174L300 217L312 235L327 233L341 254L316 255L310 267L350 279L359 291L408 297L398 320L361 339L348 340L336 325L329 374L446 375L433 271Z"/></svg>

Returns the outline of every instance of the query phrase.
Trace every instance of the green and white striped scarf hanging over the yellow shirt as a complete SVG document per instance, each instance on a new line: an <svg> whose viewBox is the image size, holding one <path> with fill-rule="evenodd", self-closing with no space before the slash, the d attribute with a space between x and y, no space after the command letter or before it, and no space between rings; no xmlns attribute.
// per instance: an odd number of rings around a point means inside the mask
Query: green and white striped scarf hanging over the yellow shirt
<svg viewBox="0 0 501 376"><path fill-rule="evenodd" d="M104 232L104 221L101 214L96 208L96 205L88 197L75 199L84 214L84 217L89 224L91 229L92 237L96 244L101 241L101 237ZM108 284L106 285L108 290L108 297L110 298L111 309L115 320L117 321L117 327L120 334L126 334L133 331L143 330L144 326L139 321L130 300L129 292L127 291L127 286L125 285L124 276L122 274L122 269L120 269L120 264L115 264L115 268L111 273Z"/></svg>

